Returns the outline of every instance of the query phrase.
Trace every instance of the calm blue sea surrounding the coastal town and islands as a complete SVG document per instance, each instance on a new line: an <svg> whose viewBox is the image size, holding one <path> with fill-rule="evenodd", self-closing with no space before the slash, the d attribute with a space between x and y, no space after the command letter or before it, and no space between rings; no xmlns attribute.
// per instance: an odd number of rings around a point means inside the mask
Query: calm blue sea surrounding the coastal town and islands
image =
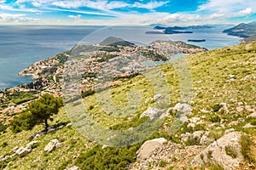
<svg viewBox="0 0 256 170"><path fill-rule="evenodd" d="M32 77L20 77L18 73L38 60L70 50L75 44L101 42L106 37L121 37L137 45L148 45L154 40L206 39L189 43L208 49L239 44L240 37L222 33L226 28L214 26L191 29L192 34L156 35L145 34L155 31L148 26L0 26L0 89L32 82Z"/></svg>

